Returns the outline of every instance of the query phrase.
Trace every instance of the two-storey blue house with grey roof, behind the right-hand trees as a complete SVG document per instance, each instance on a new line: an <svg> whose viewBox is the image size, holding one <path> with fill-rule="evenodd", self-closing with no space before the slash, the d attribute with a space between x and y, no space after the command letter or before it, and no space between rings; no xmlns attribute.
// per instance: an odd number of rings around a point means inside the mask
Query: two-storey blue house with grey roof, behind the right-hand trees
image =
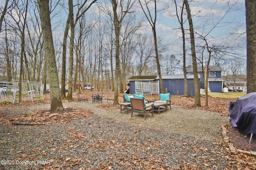
<svg viewBox="0 0 256 170"><path fill-rule="evenodd" d="M193 67L186 68L187 75L193 74ZM220 65L210 65L208 70L208 91L222 92L224 80L221 77L222 68ZM204 89L204 79L202 67L198 67L198 74L200 75L200 89Z"/></svg>

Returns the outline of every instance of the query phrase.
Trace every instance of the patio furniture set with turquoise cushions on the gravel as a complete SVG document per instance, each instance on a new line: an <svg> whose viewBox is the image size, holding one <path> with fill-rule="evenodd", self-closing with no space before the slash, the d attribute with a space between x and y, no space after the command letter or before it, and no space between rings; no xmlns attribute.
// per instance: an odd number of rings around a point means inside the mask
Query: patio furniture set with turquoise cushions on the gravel
<svg viewBox="0 0 256 170"><path fill-rule="evenodd" d="M132 111L132 115L133 113L144 115L144 120L148 113L152 113L152 116L154 116L154 111L158 113L160 113L160 111L167 111L168 106L170 106L171 109L170 93L161 93L160 100L158 101L145 101L143 95L129 96L125 94L123 97L124 103L120 103L120 112L122 113L122 110L125 110L127 114L129 109Z"/></svg>

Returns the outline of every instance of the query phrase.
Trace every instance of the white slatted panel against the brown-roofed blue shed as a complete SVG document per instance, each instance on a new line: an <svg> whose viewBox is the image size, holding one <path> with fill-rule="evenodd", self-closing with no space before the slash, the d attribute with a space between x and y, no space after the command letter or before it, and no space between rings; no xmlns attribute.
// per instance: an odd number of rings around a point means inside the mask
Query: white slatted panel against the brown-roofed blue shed
<svg viewBox="0 0 256 170"><path fill-rule="evenodd" d="M159 95L159 81L135 81L135 93Z"/></svg>

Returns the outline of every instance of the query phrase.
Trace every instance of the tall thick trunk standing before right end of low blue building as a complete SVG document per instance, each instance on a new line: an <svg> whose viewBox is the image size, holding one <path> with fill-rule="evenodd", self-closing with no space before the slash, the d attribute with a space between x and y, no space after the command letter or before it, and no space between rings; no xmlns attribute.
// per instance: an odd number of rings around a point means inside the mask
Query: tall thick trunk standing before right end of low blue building
<svg viewBox="0 0 256 170"><path fill-rule="evenodd" d="M194 28L193 28L193 22L192 22L188 0L184 0L184 3L185 3L186 11L188 14L188 23L189 23L189 31L190 31L191 54L192 54L193 74L194 74L194 85L195 85L194 107L201 107L200 85L199 85L197 63L196 63L196 46L195 46L195 38L194 38Z"/></svg>

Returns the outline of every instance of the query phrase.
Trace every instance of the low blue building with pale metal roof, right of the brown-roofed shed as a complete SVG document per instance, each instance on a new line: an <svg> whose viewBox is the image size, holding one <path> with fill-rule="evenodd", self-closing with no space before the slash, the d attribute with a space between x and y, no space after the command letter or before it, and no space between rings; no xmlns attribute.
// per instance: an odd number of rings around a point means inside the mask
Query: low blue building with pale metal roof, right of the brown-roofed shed
<svg viewBox="0 0 256 170"><path fill-rule="evenodd" d="M200 79L200 75L198 74ZM156 81L159 77L156 77ZM167 88L171 95L184 95L184 75L162 75L164 89ZM188 95L195 95L194 75L187 75Z"/></svg>

